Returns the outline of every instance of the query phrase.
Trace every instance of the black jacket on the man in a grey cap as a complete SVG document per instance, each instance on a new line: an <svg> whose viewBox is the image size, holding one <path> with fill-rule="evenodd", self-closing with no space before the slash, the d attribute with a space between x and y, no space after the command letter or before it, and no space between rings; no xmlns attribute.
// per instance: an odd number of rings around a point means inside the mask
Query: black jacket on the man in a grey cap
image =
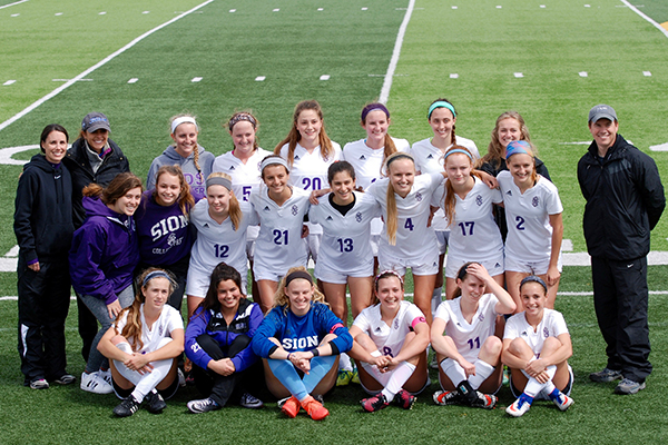
<svg viewBox="0 0 668 445"><path fill-rule="evenodd" d="M592 257L633 259L649 253L649 233L666 207L654 159L621 135L601 162L596 141L578 162L584 206L584 239Z"/></svg>

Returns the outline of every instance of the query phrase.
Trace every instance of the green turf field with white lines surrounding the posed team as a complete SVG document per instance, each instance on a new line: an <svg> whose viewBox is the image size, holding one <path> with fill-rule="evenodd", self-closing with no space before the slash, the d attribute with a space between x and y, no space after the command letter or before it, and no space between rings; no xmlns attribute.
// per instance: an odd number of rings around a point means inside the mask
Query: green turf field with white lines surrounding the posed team
<svg viewBox="0 0 668 445"><path fill-rule="evenodd" d="M29 0L0 9L0 125L65 83L52 79L75 78L203 2ZM0 0L0 7L9 3ZM235 110L253 109L261 121L261 145L273 149L291 126L294 105L307 98L323 105L332 139L342 145L360 139L360 110L380 95L407 4L409 0L215 0L1 129L0 149L37 144L43 126L52 121L65 125L73 139L81 118L97 110L110 118L111 138L128 155L132 170L145 177L150 160L170 141L173 115L197 115L200 144L219 155L230 148L220 121ZM645 1L640 10L659 22L668 20L664 2ZM56 16L59 12L62 16ZM589 8L574 0L419 0L390 91L391 130L411 142L429 137L426 108L444 96L458 108L458 134L475 140L484 152L497 116L519 110L560 189L564 238L582 251L583 201L574 171L586 146L569 142L591 140L587 112L599 102L616 108L620 132L640 149L668 142L667 56L668 38L615 0L590 1ZM515 78L515 72L523 77ZM453 73L459 77L451 78ZM330 79L320 80L323 75ZM256 81L258 76L266 79ZM202 81L193 82L196 77ZM131 78L137 82L128 83ZM16 82L3 86L8 80ZM666 152L651 155L668 184ZM20 170L0 166L0 225L6 227L0 231L0 256L16 244L10 227ZM664 218L652 234L652 250L668 250L667 237ZM650 289L665 291L667 278L666 266L650 267ZM590 291L589 269L564 268L560 290ZM0 296L7 295L16 295L16 275L0 273ZM213 437L267 444L665 442L668 295L650 296L656 370L648 388L630 397L613 396L612 385L588 382L587 374L605 363L590 297L562 295L557 308L564 313L574 348L576 405L567 413L539 404L524 417L510 419L502 409L438 407L430 399L434 383L410 413L391 407L367 415L357 405L363 396L358 387L336 390L327 398L332 416L315 424L303 416L285 419L274 406L190 416L185 403L198 397L193 388L177 394L161 416L141 411L128 419L111 418L117 403L111 396L78 387L27 389L16 350L16 301L0 300L0 424L7 425L0 443L116 443L125 436L166 444ZM80 374L75 310L72 305L68 358L69 370ZM510 402L503 388L500 405Z"/></svg>

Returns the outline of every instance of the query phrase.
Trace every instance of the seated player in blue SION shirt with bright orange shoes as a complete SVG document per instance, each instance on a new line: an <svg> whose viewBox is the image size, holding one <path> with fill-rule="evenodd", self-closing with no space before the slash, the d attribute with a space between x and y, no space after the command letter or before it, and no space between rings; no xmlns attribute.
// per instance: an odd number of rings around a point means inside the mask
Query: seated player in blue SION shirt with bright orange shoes
<svg viewBox="0 0 668 445"><path fill-rule="evenodd" d="M338 354L353 344L347 328L313 286L305 267L293 267L281 280L274 308L253 337L253 350L265 358L268 389L288 417L299 407L314 421L330 415L312 394L323 395L336 383Z"/></svg>

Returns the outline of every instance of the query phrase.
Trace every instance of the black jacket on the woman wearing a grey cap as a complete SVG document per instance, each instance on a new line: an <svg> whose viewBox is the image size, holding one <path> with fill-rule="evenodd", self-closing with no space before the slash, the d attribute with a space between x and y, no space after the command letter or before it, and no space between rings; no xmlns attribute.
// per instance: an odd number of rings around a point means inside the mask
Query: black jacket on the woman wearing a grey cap
<svg viewBox="0 0 668 445"><path fill-rule="evenodd" d="M84 197L81 190L84 190L84 187L91 182L107 187L116 175L130 171L128 159L111 139L109 139L109 147L111 147L111 154L105 157L102 165L96 174L92 172L92 168L88 161L86 144L84 144L82 138L77 139L72 144L70 149L67 150L67 156L62 159L72 176L73 221L77 228L81 227L84 219L86 219L86 210L84 210L84 206L81 205L81 198Z"/></svg>

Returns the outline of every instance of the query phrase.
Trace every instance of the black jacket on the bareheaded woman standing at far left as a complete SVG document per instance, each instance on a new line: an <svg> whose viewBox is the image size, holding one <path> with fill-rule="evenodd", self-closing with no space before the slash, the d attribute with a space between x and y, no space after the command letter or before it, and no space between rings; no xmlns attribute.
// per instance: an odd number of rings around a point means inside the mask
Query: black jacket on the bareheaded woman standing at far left
<svg viewBox="0 0 668 445"><path fill-rule="evenodd" d="M75 226L72 181L60 164L53 168L36 155L23 168L17 188L14 234L21 261L67 261Z"/></svg>

